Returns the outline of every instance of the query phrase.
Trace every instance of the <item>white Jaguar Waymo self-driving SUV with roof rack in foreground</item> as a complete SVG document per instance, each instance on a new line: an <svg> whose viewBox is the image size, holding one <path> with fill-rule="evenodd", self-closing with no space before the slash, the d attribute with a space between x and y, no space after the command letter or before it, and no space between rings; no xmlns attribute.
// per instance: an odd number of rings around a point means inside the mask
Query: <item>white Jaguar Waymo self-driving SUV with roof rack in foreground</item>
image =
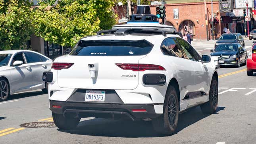
<svg viewBox="0 0 256 144"><path fill-rule="evenodd" d="M126 117L172 134L180 112L199 105L216 111L218 58L201 57L174 27L136 25L82 38L44 72L58 128L75 128L82 117Z"/></svg>

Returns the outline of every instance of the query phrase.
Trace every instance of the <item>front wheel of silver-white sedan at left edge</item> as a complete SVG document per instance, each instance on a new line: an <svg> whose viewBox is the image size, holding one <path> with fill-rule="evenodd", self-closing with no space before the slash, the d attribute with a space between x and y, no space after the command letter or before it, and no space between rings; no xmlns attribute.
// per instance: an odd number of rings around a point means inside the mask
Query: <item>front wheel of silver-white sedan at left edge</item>
<svg viewBox="0 0 256 144"><path fill-rule="evenodd" d="M10 95L9 84L6 79L0 78L0 102L7 100Z"/></svg>

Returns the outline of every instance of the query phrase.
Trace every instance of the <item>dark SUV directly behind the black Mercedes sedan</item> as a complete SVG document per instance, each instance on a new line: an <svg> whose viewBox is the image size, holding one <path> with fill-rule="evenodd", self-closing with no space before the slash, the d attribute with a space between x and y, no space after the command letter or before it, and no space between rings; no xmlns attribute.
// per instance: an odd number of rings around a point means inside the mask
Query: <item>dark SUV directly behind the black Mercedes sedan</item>
<svg viewBox="0 0 256 144"><path fill-rule="evenodd" d="M240 33L224 33L222 34L218 41L215 43L214 48L216 48L216 46L218 46L219 44L223 44L223 43L239 43L243 48L244 48L244 38L242 37L242 35Z"/></svg>

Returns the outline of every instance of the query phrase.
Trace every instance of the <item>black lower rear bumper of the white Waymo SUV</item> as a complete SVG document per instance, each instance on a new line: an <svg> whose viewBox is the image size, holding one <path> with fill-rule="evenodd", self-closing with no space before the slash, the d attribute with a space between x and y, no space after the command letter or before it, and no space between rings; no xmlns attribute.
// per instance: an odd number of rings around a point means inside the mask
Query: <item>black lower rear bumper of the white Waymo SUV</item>
<svg viewBox="0 0 256 144"><path fill-rule="evenodd" d="M158 104L103 104L85 102L60 102L50 100L50 110L53 113L64 114L74 117L129 117L132 120L156 118L161 114L155 112L154 106ZM162 105L162 104L160 104ZM53 108L52 106L61 106ZM134 112L132 109L145 109Z"/></svg>

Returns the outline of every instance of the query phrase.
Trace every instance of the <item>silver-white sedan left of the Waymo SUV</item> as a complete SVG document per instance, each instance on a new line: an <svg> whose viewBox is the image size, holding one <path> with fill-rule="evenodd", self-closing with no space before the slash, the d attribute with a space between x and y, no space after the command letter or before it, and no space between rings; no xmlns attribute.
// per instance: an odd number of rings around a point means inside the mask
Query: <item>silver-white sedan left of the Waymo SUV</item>
<svg viewBox="0 0 256 144"><path fill-rule="evenodd" d="M47 93L42 73L51 69L51 63L50 58L30 50L0 51L0 101L28 90Z"/></svg>

